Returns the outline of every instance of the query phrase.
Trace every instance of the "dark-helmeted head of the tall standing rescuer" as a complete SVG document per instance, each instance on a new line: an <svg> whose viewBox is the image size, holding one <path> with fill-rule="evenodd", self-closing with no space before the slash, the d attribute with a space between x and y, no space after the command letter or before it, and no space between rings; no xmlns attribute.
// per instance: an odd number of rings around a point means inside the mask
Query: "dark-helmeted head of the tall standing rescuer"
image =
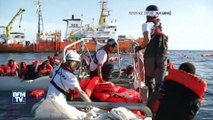
<svg viewBox="0 0 213 120"><path fill-rule="evenodd" d="M148 22L154 22L154 20L158 17L156 12L159 11L158 6L149 5L146 7L146 19Z"/></svg>

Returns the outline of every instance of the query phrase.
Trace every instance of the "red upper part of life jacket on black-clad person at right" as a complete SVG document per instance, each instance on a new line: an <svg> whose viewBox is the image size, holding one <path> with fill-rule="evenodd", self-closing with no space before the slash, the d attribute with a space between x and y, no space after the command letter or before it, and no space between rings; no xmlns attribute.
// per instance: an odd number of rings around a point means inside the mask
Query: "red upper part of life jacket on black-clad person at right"
<svg viewBox="0 0 213 120"><path fill-rule="evenodd" d="M207 89L207 83L193 74L182 70L171 69L166 81L174 81L194 92L203 101Z"/></svg>

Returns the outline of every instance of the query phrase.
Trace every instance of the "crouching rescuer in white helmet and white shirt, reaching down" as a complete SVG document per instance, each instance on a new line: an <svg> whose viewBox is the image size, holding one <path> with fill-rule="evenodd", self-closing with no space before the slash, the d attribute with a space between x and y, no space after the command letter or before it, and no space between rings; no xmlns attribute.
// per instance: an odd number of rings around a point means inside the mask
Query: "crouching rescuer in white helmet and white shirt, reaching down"
<svg viewBox="0 0 213 120"><path fill-rule="evenodd" d="M74 90L85 102L91 102L74 75L79 65L80 55L72 51L66 55L65 63L53 69L46 99L38 103L37 108L34 107L36 118L76 120L86 117L86 113L67 103L67 100L72 100Z"/></svg>

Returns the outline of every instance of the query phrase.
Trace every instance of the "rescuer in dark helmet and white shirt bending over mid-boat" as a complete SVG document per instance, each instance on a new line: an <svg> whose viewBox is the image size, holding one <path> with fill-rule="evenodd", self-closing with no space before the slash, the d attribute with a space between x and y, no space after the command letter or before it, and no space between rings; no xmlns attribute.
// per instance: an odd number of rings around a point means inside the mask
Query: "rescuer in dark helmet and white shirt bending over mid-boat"
<svg viewBox="0 0 213 120"><path fill-rule="evenodd" d="M113 64L109 54L112 53L117 46L115 39L108 39L106 45L96 51L90 62L90 79L99 76L101 80L109 81L113 71ZM118 59L117 59L118 60Z"/></svg>

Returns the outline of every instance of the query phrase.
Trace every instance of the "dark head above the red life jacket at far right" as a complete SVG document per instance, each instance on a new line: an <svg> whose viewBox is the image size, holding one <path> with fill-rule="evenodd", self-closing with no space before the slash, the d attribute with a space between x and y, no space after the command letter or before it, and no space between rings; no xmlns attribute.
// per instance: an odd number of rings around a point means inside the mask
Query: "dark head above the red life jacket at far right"
<svg viewBox="0 0 213 120"><path fill-rule="evenodd" d="M182 63L178 69L191 74L195 74L196 71L195 66L189 62Z"/></svg>

